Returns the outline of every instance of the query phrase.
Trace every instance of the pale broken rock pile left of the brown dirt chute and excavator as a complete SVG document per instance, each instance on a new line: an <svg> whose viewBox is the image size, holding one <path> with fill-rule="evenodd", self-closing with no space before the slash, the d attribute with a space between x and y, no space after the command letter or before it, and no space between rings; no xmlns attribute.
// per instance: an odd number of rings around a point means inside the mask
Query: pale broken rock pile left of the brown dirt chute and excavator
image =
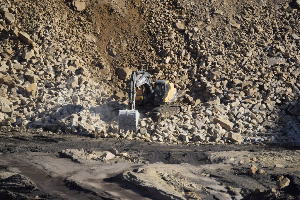
<svg viewBox="0 0 300 200"><path fill-rule="evenodd" d="M83 33L67 34L70 25L53 16L51 24L46 23L47 18L40 19L30 35L19 31L23 28L22 9L7 2L1 5L1 17L11 23L1 22L5 25L1 30L7 34L0 42L0 126L41 127L81 135L100 133L111 126L105 120L113 118L110 104L116 102L105 102L104 85L94 82L86 68L92 58L81 56L97 51L95 44L85 40ZM85 49L73 42L79 39ZM101 62L101 56L96 59Z"/></svg>

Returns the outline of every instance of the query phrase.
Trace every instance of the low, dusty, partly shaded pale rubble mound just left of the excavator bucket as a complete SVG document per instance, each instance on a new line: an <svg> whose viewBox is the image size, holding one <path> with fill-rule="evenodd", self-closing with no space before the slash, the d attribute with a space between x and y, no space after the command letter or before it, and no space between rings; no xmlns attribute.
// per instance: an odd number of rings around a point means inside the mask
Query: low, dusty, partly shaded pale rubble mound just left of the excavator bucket
<svg viewBox="0 0 300 200"><path fill-rule="evenodd" d="M76 135L95 135L118 130L118 112L125 104L118 101L104 102L100 105L84 108L82 105L67 104L52 113L35 120L28 126L43 128L51 132L64 132Z"/></svg>

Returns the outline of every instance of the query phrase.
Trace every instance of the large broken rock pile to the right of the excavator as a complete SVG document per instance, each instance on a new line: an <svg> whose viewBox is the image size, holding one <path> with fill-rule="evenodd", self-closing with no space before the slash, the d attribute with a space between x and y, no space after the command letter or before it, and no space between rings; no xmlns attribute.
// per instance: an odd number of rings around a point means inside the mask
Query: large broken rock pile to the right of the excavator
<svg viewBox="0 0 300 200"><path fill-rule="evenodd" d="M186 110L155 124L144 119L138 137L299 145L299 10L245 2L228 13L230 3L199 4L148 8L148 70L176 84Z"/></svg>

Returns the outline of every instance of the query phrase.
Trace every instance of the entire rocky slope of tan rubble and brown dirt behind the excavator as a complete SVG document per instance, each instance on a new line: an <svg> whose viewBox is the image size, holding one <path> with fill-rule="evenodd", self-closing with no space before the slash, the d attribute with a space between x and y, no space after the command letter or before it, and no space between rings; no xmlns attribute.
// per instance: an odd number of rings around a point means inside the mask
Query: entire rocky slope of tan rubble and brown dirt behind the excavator
<svg viewBox="0 0 300 200"><path fill-rule="evenodd" d="M300 146L297 2L1 2L0 124ZM174 82L185 109L119 135L123 91L140 68Z"/></svg>

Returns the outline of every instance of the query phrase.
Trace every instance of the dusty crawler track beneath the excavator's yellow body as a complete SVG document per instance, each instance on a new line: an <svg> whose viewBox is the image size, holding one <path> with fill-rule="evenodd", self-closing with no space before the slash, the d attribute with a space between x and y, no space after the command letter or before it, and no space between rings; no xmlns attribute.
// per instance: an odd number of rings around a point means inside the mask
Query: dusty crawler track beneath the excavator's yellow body
<svg viewBox="0 0 300 200"><path fill-rule="evenodd" d="M151 111L151 118L153 120L158 118L166 118L173 115L176 115L182 111L181 105L174 104L174 105L163 105L157 108L154 108Z"/></svg>

